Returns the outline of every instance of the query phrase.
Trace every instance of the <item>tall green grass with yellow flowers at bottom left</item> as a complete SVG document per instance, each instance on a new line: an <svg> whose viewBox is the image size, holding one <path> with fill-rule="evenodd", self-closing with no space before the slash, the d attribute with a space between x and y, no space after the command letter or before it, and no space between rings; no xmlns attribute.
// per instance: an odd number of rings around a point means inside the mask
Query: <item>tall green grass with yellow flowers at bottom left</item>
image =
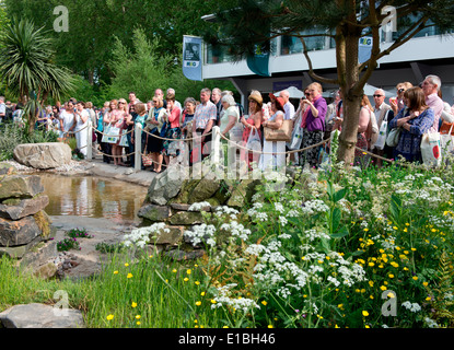
<svg viewBox="0 0 454 350"><path fill-rule="evenodd" d="M2 257L0 312L16 304L55 304L54 293L62 290L68 293L70 307L83 311L90 328L225 325L222 311L211 310L208 283L196 262L183 265L163 256L127 261L114 254L103 271L91 279L44 281L23 271L18 273L13 261Z"/></svg>

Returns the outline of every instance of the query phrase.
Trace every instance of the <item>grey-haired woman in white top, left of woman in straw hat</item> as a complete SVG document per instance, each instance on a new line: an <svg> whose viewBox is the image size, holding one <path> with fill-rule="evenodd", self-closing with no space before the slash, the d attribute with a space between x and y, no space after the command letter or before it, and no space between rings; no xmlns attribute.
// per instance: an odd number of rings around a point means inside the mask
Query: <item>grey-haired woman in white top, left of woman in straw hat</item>
<svg viewBox="0 0 454 350"><path fill-rule="evenodd" d="M238 108L236 107L235 98L233 98L232 95L224 95L221 98L221 103L224 112L222 114L219 128L221 130L221 135L230 139L229 131L232 130L236 122L238 122L240 113ZM221 142L224 152L224 165L233 165L236 160L236 147L234 145L234 143L231 143L222 138ZM226 154L229 154L228 158ZM225 162L228 163L225 164Z"/></svg>

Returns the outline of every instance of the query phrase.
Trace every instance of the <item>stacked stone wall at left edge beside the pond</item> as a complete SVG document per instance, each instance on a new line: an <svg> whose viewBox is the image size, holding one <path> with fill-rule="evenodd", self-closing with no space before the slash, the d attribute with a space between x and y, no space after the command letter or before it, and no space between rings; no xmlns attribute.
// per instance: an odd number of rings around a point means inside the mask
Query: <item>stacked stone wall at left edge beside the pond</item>
<svg viewBox="0 0 454 350"><path fill-rule="evenodd" d="M42 265L57 255L51 240L49 203L39 176L15 175L13 168L0 175L0 256L16 259L18 266L39 273Z"/></svg>

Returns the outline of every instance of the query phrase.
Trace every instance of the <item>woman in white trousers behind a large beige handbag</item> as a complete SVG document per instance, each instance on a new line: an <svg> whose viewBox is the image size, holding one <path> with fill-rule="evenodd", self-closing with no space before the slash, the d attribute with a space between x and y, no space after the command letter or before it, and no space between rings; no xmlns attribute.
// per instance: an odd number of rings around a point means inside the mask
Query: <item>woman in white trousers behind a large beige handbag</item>
<svg viewBox="0 0 454 350"><path fill-rule="evenodd" d="M282 97L271 98L271 117L261 125L265 128L279 129L283 124L283 100ZM276 153L276 154L270 154ZM264 154L261 155L261 171L267 168L279 170L286 166L286 142L284 141L267 141L264 138Z"/></svg>

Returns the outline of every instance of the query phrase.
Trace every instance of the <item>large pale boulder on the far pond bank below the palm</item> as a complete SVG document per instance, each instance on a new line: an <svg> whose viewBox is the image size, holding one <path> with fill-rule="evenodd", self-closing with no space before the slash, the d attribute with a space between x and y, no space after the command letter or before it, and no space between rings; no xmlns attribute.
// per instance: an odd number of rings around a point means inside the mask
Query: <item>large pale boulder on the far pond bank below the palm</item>
<svg viewBox="0 0 454 350"><path fill-rule="evenodd" d="M33 168L56 168L71 162L71 148L63 142L18 144L14 160Z"/></svg>

